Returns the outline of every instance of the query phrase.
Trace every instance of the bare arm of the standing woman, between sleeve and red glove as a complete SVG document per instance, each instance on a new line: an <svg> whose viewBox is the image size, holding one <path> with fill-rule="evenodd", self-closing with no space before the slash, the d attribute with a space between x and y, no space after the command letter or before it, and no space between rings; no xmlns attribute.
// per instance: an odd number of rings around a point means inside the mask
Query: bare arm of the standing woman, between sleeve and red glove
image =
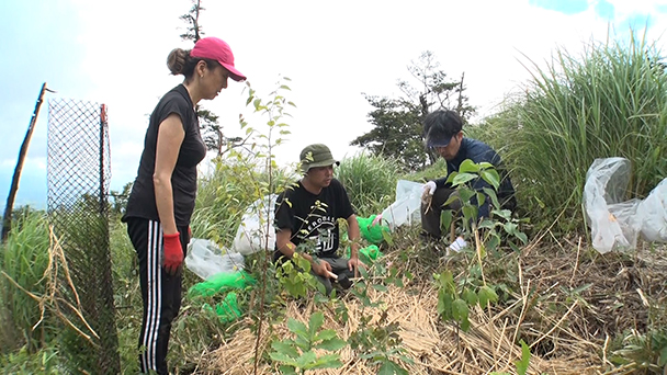
<svg viewBox="0 0 667 375"><path fill-rule="evenodd" d="M183 123L179 115L172 113L162 121L158 129L152 185L155 188L155 203L165 235L178 232L173 217L171 173L176 167L184 138L185 130L183 130Z"/></svg>

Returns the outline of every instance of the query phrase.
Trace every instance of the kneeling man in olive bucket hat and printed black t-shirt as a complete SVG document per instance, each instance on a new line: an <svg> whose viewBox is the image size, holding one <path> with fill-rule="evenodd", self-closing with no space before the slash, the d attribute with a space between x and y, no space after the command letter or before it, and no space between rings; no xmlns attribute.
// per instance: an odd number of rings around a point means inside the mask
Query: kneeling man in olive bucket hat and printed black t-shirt
<svg viewBox="0 0 667 375"><path fill-rule="evenodd" d="M332 289L332 279L352 277L357 269L363 266L358 253L360 231L357 216L344 188L334 179L334 164L339 162L327 146L307 146L301 152L303 178L275 201L274 260L291 259L298 245L313 243L312 254L299 255L310 261L312 271L325 285L327 294ZM350 259L336 253L339 218L348 221ZM341 286L344 285L341 283Z"/></svg>

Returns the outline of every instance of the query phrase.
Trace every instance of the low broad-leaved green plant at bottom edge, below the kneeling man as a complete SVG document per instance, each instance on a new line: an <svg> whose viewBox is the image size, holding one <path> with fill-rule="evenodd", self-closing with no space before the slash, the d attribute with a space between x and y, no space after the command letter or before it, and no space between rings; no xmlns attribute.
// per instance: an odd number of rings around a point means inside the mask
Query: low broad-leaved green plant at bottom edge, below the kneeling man
<svg viewBox="0 0 667 375"><path fill-rule="evenodd" d="M283 374L305 374L306 371L317 368L337 368L342 366L340 356L336 353L318 355L314 350L328 352L338 351L347 345L339 339L332 329L321 329L324 315L310 315L308 326L290 318L287 329L295 336L294 339L273 341L269 353L271 360L279 364Z"/></svg>

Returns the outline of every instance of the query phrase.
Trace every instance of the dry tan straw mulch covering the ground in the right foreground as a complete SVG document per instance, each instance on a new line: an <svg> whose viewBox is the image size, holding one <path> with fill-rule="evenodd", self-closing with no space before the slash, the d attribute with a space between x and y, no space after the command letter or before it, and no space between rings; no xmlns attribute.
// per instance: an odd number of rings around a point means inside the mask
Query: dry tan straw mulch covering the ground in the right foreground
<svg viewBox="0 0 667 375"><path fill-rule="evenodd" d="M392 254L389 254L391 257ZM511 257L509 254L508 257ZM494 308L471 310L468 332L443 322L437 314L438 291L432 283L414 282L369 294L385 302L388 322L398 322L402 346L412 363L402 363L409 374L517 374L523 339L531 348L529 374L630 374L634 364L617 367L608 361L610 339L623 330L642 330L647 323L647 305L665 306L665 251L638 251L634 259L622 254L600 255L584 250L577 241L559 240L549 249L529 247L515 258L518 281L507 302ZM509 264L509 263L508 263ZM416 279L417 280L417 279ZM590 284L590 285L589 285ZM662 298L662 299L660 299ZM353 296L346 296L349 320L338 322L326 309L325 328L348 339L359 329L363 309ZM286 316L307 322L313 305L290 303ZM249 327L250 322L242 322ZM284 321L264 325L261 350L270 350L269 334L290 337ZM202 373L253 374L257 336L242 328L223 345L205 355ZM376 374L349 348L340 351L341 368L313 374ZM275 373L260 361L258 373Z"/></svg>

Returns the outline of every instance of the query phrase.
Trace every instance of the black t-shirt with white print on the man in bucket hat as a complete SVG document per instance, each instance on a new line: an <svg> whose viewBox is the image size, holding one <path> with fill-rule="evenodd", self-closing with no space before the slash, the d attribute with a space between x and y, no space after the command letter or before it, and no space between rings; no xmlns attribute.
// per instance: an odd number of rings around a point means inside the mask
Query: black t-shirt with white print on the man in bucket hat
<svg viewBox="0 0 667 375"><path fill-rule="evenodd" d="M308 192L301 181L282 192L275 200L275 227L290 229L296 246L313 241L313 253L331 257L338 250L338 219L347 219L354 211L340 182L331 180L319 194ZM280 258L275 250L275 258Z"/></svg>

